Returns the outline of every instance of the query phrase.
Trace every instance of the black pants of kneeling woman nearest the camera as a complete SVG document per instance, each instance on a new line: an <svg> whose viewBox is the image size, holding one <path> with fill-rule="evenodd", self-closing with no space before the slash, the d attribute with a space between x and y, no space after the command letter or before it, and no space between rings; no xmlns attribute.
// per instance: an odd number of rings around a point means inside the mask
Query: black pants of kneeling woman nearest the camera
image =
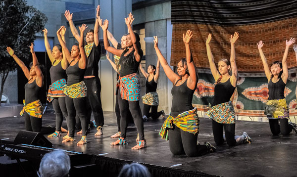
<svg viewBox="0 0 297 177"><path fill-rule="evenodd" d="M198 133L182 131L174 124L168 133L169 148L173 155L186 154L188 157L194 157L207 152L206 145L197 144Z"/></svg>

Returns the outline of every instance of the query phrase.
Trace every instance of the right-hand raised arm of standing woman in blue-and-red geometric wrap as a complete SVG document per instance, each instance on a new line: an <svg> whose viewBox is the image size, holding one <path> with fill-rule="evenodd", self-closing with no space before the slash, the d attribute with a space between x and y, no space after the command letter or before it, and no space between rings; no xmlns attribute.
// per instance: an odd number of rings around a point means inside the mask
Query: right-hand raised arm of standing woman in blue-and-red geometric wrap
<svg viewBox="0 0 297 177"><path fill-rule="evenodd" d="M132 26L131 26L133 21L134 21L134 18L133 18L132 13L130 12L129 16L127 18L125 18L125 22L126 22L126 25L128 27L128 30L130 31L129 34L130 34L131 41L132 41L134 49L135 49L135 52L134 52L135 60L137 62L140 62L140 60L141 60L141 55L140 55L141 48L140 48L139 44L136 42L136 37L135 37L135 34L134 34Z"/></svg>

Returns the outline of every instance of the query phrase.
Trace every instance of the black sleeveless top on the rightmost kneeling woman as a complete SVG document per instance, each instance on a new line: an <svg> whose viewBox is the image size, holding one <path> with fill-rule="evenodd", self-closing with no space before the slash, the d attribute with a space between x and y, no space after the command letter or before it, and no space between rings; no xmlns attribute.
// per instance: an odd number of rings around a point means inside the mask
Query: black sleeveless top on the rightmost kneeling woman
<svg viewBox="0 0 297 177"><path fill-rule="evenodd" d="M268 84L268 90L269 90L268 100L285 98L285 95L284 95L285 87L286 87L286 84L284 83L282 78L280 78L280 80L276 83L273 83L271 78Z"/></svg>

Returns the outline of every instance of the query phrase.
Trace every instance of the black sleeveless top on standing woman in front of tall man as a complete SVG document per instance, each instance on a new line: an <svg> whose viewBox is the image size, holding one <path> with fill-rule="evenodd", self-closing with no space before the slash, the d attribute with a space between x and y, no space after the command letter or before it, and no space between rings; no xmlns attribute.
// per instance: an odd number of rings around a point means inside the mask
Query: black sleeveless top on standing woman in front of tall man
<svg viewBox="0 0 297 177"><path fill-rule="evenodd" d="M73 62L72 60L70 64ZM83 81L84 79L84 74L85 74L85 69L80 69L78 67L78 62L75 63L73 66L68 66L66 69L66 74L67 74L67 86L71 86L73 84L77 84Z"/></svg>

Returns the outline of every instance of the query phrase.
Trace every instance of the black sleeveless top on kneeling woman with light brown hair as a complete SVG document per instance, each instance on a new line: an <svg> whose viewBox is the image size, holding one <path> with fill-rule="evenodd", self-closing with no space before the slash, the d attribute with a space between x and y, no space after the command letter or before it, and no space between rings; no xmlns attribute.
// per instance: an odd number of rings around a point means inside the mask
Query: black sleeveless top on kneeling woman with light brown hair
<svg viewBox="0 0 297 177"><path fill-rule="evenodd" d="M230 78L224 83L218 83L214 87L214 97L211 106L230 101L235 87L232 86Z"/></svg>

